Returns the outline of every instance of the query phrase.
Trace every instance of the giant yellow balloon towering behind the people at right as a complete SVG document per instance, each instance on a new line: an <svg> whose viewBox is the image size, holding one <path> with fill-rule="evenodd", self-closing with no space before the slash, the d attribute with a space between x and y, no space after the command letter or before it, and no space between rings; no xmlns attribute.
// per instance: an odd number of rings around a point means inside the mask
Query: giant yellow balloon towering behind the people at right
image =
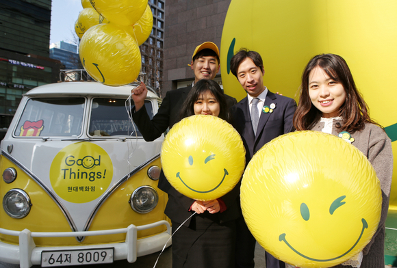
<svg viewBox="0 0 397 268"><path fill-rule="evenodd" d="M242 14L250 14L242 16ZM264 59L264 83L272 92L298 100L303 68L320 53L346 59L371 117L385 126L397 159L397 1L231 0L222 31L220 68L225 93L246 93L229 72L229 59L242 47ZM381 90L374 90L381 89ZM394 161L397 170L397 161ZM390 204L397 209L397 172Z"/></svg>

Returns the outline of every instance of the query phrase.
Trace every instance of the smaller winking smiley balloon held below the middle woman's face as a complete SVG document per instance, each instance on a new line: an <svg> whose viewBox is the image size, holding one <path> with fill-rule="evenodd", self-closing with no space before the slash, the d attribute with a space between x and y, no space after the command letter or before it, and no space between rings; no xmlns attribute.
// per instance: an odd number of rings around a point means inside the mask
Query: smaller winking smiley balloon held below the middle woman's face
<svg viewBox="0 0 397 268"><path fill-rule="evenodd" d="M190 116L172 126L161 156L170 184L195 200L224 196L238 183L245 166L240 135L216 116Z"/></svg>

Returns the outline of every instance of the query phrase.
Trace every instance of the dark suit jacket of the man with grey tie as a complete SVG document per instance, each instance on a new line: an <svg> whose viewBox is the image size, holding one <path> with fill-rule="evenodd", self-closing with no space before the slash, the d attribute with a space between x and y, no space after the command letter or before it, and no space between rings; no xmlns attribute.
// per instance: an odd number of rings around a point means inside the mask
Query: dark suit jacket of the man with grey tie
<svg viewBox="0 0 397 268"><path fill-rule="evenodd" d="M276 105L272 113L261 113L256 137L251 123L248 98L243 98L231 109L233 126L240 133L246 149L246 165L262 146L293 129L295 100L268 91L264 106L270 107L272 103Z"/></svg>

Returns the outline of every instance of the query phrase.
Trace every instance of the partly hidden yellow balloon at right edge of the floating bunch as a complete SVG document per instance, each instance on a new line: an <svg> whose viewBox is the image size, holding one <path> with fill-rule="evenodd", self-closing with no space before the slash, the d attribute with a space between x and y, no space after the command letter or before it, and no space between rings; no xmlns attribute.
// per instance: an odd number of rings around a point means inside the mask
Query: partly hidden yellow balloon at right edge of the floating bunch
<svg viewBox="0 0 397 268"><path fill-rule="evenodd" d="M153 28L153 13L150 5L147 5L144 14L133 26L125 28L131 36L136 38L139 46L143 44L149 38Z"/></svg>

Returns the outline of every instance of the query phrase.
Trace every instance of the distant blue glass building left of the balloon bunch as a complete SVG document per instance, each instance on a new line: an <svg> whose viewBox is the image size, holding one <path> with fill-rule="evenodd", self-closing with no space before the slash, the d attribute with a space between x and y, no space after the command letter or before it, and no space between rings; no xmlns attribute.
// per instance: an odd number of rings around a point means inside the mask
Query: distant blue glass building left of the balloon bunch
<svg viewBox="0 0 397 268"><path fill-rule="evenodd" d="M51 59L57 59L64 64L65 69L82 69L80 57L77 53L77 45L64 41L50 45L49 55Z"/></svg>

